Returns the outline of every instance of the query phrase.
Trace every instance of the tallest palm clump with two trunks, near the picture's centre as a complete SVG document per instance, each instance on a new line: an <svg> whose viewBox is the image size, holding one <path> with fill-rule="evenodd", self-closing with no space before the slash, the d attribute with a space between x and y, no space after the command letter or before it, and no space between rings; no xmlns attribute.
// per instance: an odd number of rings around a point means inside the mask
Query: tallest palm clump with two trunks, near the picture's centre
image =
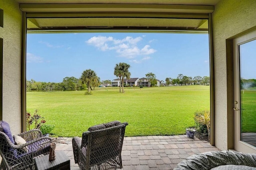
<svg viewBox="0 0 256 170"><path fill-rule="evenodd" d="M122 92L124 93L124 77L130 78L131 73L129 72L130 65L126 63L116 64L114 68L114 75L120 78L122 81ZM121 86L119 86L119 92L121 92Z"/></svg>

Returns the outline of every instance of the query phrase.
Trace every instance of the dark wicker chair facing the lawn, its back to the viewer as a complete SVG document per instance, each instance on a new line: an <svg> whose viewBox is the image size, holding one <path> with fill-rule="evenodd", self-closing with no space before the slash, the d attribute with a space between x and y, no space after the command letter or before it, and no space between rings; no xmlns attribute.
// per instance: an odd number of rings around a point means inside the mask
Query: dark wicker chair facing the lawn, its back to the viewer
<svg viewBox="0 0 256 170"><path fill-rule="evenodd" d="M127 122L113 121L90 127L72 139L74 160L82 170L122 168L121 151Z"/></svg>

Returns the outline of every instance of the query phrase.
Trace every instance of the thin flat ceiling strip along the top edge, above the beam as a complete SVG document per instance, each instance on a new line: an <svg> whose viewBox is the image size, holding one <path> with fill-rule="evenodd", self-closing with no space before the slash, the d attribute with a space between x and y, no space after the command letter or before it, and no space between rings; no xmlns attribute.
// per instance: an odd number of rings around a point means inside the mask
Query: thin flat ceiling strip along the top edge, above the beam
<svg viewBox="0 0 256 170"><path fill-rule="evenodd" d="M16 0L20 4L83 4L83 3L118 3L118 4L183 4L216 5L220 0Z"/></svg>

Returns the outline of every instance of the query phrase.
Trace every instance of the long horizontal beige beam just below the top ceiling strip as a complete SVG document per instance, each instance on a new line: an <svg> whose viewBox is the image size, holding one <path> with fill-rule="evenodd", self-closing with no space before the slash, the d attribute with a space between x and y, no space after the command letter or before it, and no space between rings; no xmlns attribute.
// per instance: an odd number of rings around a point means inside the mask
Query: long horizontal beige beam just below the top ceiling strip
<svg viewBox="0 0 256 170"><path fill-rule="evenodd" d="M163 12L209 14L214 6L170 4L20 4L23 12Z"/></svg>

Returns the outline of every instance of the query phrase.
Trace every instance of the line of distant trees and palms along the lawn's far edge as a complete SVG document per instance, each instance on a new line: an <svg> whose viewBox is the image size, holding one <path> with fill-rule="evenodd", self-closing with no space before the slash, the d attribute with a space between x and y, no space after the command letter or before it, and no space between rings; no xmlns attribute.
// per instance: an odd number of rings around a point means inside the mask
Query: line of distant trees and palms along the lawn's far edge
<svg viewBox="0 0 256 170"><path fill-rule="evenodd" d="M129 72L130 65L126 63L118 63L114 67L114 75L120 78L122 82L122 93L124 93L124 78L129 79L131 73ZM157 84L156 75L152 72L145 74L148 83L148 87L155 86ZM84 70L80 78L75 77L65 77L62 82L36 82L35 80L26 80L26 90L56 90L56 91L65 91L65 90L85 90L88 89L88 94L90 90L94 90L95 87L98 87L100 84L111 84L111 80L100 81L100 77L97 76L96 72L91 69ZM178 74L177 78L166 78L165 84L164 81L161 81L162 85L165 86L183 86L183 85L210 85L210 77L208 76L196 76L194 78L184 76L183 74ZM121 86L119 86L119 92L121 92Z"/></svg>

